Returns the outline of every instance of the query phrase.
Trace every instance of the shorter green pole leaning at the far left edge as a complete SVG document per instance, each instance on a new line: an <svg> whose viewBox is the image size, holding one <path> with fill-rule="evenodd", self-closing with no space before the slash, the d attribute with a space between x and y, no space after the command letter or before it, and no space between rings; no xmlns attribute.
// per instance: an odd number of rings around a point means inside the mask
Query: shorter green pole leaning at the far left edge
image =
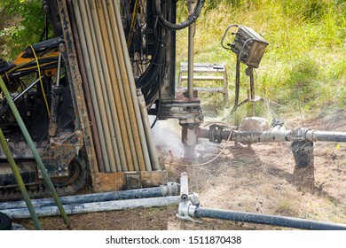
<svg viewBox="0 0 346 248"><path fill-rule="evenodd" d="M23 179L20 176L20 170L18 169L16 163L14 162L12 153L10 151L10 148L8 146L8 143L6 142L3 134L3 130L0 128L0 143L3 148L4 153L6 154L7 161L12 169L14 178L16 179L16 182L18 186L20 187L20 193L22 198L24 199L25 206L28 207L28 213L30 214L31 219L34 221L35 229L42 230L41 222L38 220L37 214L35 213L34 205L32 204L30 197L28 195L28 191L25 188L25 184L23 182ZM24 206L24 207L25 207Z"/></svg>

